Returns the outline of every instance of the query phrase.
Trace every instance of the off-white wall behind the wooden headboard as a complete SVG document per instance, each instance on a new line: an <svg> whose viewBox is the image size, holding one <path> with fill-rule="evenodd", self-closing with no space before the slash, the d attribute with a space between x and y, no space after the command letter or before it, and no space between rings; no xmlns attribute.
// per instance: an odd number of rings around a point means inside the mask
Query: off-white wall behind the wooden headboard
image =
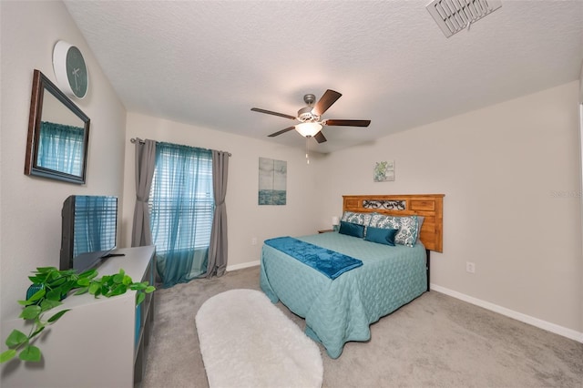
<svg viewBox="0 0 583 388"><path fill-rule="evenodd" d="M443 193L432 283L583 341L578 145L573 82L333 153L318 166L323 211L343 194ZM373 183L386 159L395 181Z"/></svg>

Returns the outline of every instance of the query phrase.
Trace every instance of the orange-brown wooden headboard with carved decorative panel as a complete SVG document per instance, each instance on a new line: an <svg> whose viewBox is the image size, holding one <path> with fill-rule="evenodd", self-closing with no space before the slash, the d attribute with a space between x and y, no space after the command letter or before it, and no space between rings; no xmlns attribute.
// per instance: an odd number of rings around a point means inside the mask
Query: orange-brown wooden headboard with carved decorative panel
<svg viewBox="0 0 583 388"><path fill-rule="evenodd" d="M376 212L390 216L423 216L419 239L425 249L443 252L445 194L344 195L343 211Z"/></svg>

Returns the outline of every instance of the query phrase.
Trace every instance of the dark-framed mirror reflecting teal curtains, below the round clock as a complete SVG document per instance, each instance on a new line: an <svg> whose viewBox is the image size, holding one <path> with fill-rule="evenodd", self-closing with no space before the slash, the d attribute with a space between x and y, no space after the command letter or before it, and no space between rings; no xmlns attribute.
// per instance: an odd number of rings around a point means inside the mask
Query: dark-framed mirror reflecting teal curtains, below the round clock
<svg viewBox="0 0 583 388"><path fill-rule="evenodd" d="M89 117L35 70L30 97L25 174L85 183Z"/></svg>

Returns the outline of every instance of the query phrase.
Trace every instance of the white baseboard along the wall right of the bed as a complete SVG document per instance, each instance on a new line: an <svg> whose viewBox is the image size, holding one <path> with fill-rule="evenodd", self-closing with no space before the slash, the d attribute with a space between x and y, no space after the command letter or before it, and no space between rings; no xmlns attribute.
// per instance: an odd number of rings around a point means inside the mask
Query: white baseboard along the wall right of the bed
<svg viewBox="0 0 583 388"><path fill-rule="evenodd" d="M546 330L547 332L554 332L555 334L562 335L563 337L567 337L571 340L583 342L583 332L577 332L575 330L559 326L555 323L539 320L538 318L531 317L521 312L506 309L506 307L498 306L497 304L490 303L489 301L482 301L472 296L465 295L464 293L449 290L446 289L445 287L441 287L433 283L430 285L430 289L435 290L437 292L445 293L445 295L452 296L455 299L459 299L461 301L467 301L468 303L472 303L475 304L476 306L483 307L486 310L506 315L506 317L515 319L517 321L528 323L530 325L536 326L539 329Z"/></svg>

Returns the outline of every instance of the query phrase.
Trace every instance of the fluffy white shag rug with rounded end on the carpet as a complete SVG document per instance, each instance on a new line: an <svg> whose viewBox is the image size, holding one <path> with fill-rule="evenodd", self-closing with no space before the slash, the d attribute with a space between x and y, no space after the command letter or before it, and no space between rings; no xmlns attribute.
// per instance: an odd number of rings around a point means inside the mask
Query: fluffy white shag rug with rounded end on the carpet
<svg viewBox="0 0 583 388"><path fill-rule="evenodd" d="M196 316L210 388L319 388L320 349L261 291L211 297Z"/></svg>

